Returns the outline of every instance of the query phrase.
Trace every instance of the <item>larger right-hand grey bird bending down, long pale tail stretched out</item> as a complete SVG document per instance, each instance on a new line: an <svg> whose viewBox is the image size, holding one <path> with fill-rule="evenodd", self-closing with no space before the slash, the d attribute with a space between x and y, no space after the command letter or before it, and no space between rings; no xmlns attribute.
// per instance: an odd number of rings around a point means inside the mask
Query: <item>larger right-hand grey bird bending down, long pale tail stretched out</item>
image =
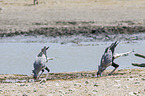
<svg viewBox="0 0 145 96"><path fill-rule="evenodd" d="M98 66L97 77L102 76L102 72L109 66L113 66L115 68L109 74L109 75L112 75L112 73L119 67L118 64L114 63L114 59L121 56L128 56L129 53L134 52L134 50L131 50L126 53L114 54L115 48L118 44L119 44L119 41L116 41L115 43L112 43L109 47L105 49L105 52L101 58L100 66Z"/></svg>

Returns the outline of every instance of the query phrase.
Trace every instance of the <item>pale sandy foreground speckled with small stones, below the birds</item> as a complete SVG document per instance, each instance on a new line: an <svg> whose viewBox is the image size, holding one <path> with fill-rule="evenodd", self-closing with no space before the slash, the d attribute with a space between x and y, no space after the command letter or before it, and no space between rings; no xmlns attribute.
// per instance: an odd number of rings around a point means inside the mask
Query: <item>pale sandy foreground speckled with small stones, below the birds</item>
<svg viewBox="0 0 145 96"><path fill-rule="evenodd" d="M82 72L82 73L93 73ZM145 70L118 70L112 76L47 80L46 82L0 83L1 96L145 96ZM81 72L79 72L81 73ZM69 76L70 73L61 73ZM68 75L69 74L69 75ZM77 72L72 74L78 74ZM58 75L58 74L56 74ZM9 78L12 75L1 75ZM17 76L14 76L17 77ZM18 76L26 78L27 76ZM28 76L29 77L29 76ZM51 76L49 76L51 77Z"/></svg>

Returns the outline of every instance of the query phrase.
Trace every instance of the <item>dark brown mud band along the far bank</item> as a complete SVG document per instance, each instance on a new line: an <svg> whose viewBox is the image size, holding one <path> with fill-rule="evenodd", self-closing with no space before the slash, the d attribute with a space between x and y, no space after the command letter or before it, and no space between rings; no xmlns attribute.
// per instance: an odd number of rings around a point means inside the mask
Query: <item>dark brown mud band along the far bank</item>
<svg viewBox="0 0 145 96"><path fill-rule="evenodd" d="M113 35L113 34L137 34L144 33L145 26L73 26L73 27L41 27L39 29L33 29L29 31L15 31L0 33L0 37L12 37L18 35L25 36L39 36L44 35L46 37L56 36L70 36L70 35L83 35L98 36L100 34Z"/></svg>

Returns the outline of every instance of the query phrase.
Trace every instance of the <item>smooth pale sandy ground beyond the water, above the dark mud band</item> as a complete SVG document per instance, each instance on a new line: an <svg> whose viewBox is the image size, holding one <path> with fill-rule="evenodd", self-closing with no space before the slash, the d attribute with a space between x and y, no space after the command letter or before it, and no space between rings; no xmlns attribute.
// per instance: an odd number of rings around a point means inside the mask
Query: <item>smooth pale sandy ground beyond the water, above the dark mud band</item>
<svg viewBox="0 0 145 96"><path fill-rule="evenodd" d="M62 27L68 21L145 25L144 0L39 0L36 6L33 0L0 0L0 11L0 32L4 33Z"/></svg>

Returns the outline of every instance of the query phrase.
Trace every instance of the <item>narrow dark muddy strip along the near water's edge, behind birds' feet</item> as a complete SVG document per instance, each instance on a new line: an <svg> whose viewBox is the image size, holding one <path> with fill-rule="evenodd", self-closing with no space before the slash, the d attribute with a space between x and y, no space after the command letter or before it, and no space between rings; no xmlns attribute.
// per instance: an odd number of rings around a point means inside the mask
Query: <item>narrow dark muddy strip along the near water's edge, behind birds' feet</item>
<svg viewBox="0 0 145 96"><path fill-rule="evenodd" d="M111 70L105 70L105 72L103 72L103 77L109 77L108 74L110 72ZM140 72L144 72L144 69L143 68L120 69L120 70L117 70L112 76L114 77L132 76L132 75L140 74ZM87 78L87 79L101 78L101 77L96 77L96 73L97 73L97 70L81 71L81 72L49 73L47 81L75 80L75 79L83 79L83 78ZM45 77L46 77L46 74L43 74L37 82L41 81ZM28 75L23 75L23 74L0 74L0 83L24 83L24 82L25 83L34 82L33 76L32 75L28 76Z"/></svg>

